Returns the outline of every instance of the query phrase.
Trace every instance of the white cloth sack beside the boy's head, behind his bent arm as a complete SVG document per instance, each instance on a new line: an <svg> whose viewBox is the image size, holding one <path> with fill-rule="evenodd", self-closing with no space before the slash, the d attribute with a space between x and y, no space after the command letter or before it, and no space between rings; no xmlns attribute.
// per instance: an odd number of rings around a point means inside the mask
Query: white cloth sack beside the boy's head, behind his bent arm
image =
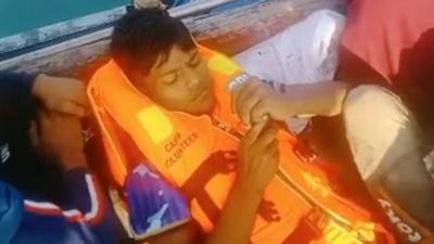
<svg viewBox="0 0 434 244"><path fill-rule="evenodd" d="M314 12L275 37L239 53L234 60L251 75L268 82L312 84L332 80L337 69L339 40L345 17L330 10ZM289 128L302 131L307 118L290 118Z"/></svg>

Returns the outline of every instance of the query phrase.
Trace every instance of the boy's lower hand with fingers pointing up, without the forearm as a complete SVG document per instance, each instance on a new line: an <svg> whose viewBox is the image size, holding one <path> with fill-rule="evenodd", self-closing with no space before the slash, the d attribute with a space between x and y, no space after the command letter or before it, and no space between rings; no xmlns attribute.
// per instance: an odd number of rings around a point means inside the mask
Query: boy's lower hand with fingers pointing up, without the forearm
<svg viewBox="0 0 434 244"><path fill-rule="evenodd" d="M277 128L269 123L255 124L239 149L238 187L263 193L279 166Z"/></svg>

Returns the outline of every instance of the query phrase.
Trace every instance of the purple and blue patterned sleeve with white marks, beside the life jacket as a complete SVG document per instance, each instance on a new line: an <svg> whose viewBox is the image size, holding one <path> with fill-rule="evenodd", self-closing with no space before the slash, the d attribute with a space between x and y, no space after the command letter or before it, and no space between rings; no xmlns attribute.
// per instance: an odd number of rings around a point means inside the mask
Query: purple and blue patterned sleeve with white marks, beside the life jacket
<svg viewBox="0 0 434 244"><path fill-rule="evenodd" d="M191 219L187 198L150 166L137 166L126 181L130 224L141 237L155 235Z"/></svg>

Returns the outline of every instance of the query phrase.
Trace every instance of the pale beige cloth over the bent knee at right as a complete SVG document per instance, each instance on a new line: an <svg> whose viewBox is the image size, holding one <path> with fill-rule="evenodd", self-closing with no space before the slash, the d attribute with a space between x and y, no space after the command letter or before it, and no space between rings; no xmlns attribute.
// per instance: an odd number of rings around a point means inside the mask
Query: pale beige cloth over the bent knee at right
<svg viewBox="0 0 434 244"><path fill-rule="evenodd" d="M423 158L422 134L414 116L385 88L367 85L349 91L343 118L346 138L363 180L380 169L388 171L397 167L406 155L413 155L417 160Z"/></svg>

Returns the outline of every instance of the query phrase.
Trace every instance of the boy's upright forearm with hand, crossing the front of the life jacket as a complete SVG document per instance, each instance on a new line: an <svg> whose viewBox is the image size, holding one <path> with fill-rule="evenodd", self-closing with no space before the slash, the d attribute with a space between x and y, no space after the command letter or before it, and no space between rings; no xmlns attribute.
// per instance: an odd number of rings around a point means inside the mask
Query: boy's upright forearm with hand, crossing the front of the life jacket
<svg viewBox="0 0 434 244"><path fill-rule="evenodd" d="M192 223L146 240L149 244L247 244L251 240L263 192L278 168L277 129L266 123L255 125L240 145L234 187L212 233L197 240L199 228ZM174 241L176 240L176 241Z"/></svg>

